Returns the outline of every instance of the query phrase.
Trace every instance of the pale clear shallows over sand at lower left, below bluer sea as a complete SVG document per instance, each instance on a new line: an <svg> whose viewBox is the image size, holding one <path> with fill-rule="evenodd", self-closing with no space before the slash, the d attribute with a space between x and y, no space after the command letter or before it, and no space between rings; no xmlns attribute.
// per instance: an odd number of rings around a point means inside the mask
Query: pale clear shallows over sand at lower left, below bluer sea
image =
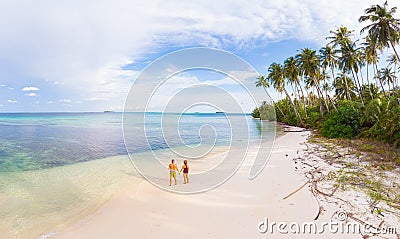
<svg viewBox="0 0 400 239"><path fill-rule="evenodd" d="M56 231L140 180L127 156L0 173L1 238L38 238Z"/></svg>

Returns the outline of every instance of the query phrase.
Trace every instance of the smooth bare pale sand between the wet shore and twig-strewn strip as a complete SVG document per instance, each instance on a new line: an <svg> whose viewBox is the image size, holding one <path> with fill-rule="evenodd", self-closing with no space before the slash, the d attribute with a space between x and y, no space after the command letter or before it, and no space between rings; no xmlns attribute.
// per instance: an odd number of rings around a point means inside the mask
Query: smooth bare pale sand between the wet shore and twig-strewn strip
<svg viewBox="0 0 400 239"><path fill-rule="evenodd" d="M260 224L265 218L269 226L314 222L319 207L307 187L284 199L307 181L296 173L292 159L301 153L309 134L289 132L278 137L269 163L254 180L248 173L255 149L229 181L212 191L180 195L143 181L50 238L309 238L284 233L288 228L280 233L276 226L274 232L260 232L265 230L266 223ZM311 238L359 238L327 233Z"/></svg>

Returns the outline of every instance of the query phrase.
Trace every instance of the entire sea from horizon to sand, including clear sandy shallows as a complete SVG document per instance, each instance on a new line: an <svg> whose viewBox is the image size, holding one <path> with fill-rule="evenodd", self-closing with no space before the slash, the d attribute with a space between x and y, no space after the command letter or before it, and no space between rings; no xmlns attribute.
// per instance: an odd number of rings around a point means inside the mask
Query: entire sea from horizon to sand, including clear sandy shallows
<svg viewBox="0 0 400 239"><path fill-rule="evenodd" d="M257 143L262 137L274 138L276 130L274 124L250 115L127 114L129 127L145 127L146 133L145 138L125 134L133 159L185 145ZM235 129L232 135L235 126L227 118L244 118L247 128ZM117 112L1 113L0 235L38 238L57 231L140 182L123 135L123 114Z"/></svg>

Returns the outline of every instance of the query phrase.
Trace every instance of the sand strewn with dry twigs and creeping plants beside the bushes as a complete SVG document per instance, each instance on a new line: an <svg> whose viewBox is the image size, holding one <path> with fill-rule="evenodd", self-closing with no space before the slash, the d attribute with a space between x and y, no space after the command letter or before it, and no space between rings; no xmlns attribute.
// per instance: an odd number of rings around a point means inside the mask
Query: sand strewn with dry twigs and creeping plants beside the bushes
<svg viewBox="0 0 400 239"><path fill-rule="evenodd" d="M369 225L372 229L399 230L400 170L397 162L380 157L373 150L359 150L357 144L351 147L352 144L343 145L317 137L310 136L293 159L296 172L304 174L307 182L283 199L309 185L319 208L314 220L317 221L323 214L334 218L339 210L343 210L347 214L347 221L357 222L361 226ZM398 233L360 231L360 236L400 238Z"/></svg>

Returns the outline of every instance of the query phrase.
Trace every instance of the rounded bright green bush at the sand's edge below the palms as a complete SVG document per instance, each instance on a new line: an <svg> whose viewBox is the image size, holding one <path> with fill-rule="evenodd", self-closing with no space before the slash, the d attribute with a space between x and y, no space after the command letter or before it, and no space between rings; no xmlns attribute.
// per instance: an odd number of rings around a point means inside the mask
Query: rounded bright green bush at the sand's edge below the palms
<svg viewBox="0 0 400 239"><path fill-rule="evenodd" d="M360 132L360 110L347 101L325 120L322 135L328 138L353 138Z"/></svg>

